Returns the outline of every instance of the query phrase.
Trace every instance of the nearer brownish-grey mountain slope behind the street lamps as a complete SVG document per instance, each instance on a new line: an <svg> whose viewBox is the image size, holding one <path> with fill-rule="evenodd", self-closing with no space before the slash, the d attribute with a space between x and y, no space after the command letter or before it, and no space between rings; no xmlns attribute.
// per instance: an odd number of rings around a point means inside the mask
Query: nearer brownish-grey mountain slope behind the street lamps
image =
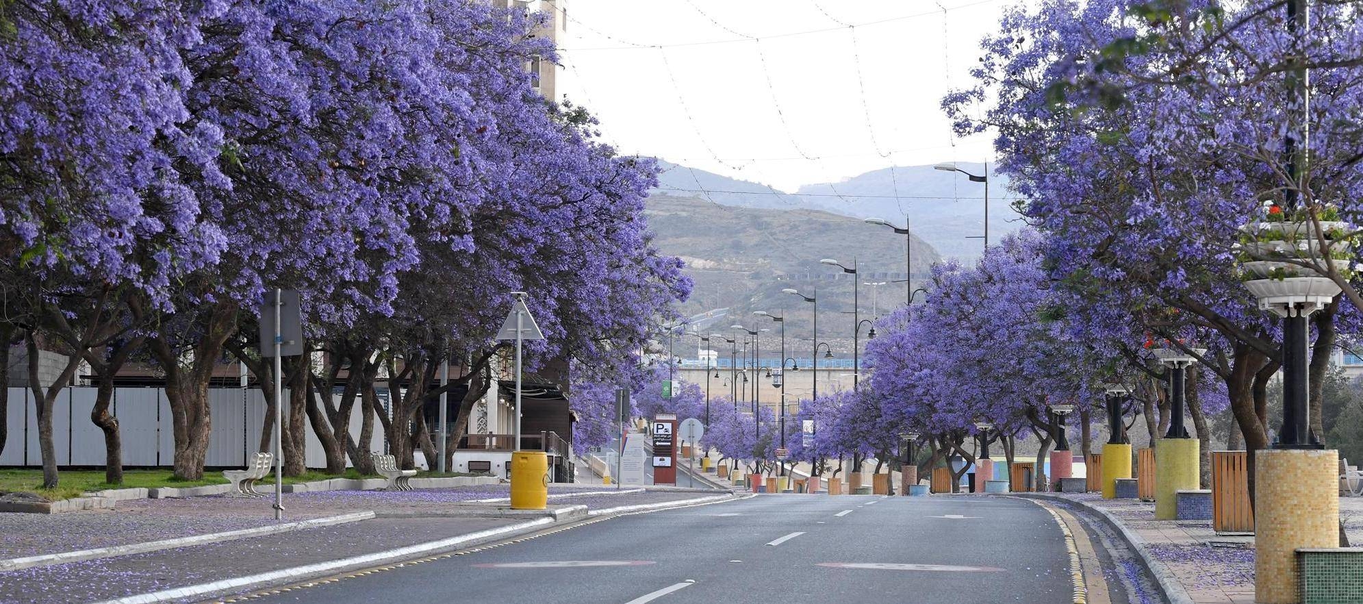
<svg viewBox="0 0 1363 604"><path fill-rule="evenodd" d="M795 288L818 299L819 339L829 341L834 354L851 356L852 316L844 312L853 308L853 275L819 260L834 258L852 266L855 258L863 284L885 284L860 286L863 319L904 304L908 293L902 282L904 236L853 217L789 206L728 206L662 192L649 198L645 215L658 250L682 258L686 273L695 281L682 312L707 315L694 322L701 333L735 334L731 329L735 323L767 327L771 333L763 335L762 348L776 350L780 324L754 316L752 311L773 315L784 311L789 350L807 349L812 305L781 292ZM917 236L910 245L917 286L927 281L928 266L940 256Z"/></svg>

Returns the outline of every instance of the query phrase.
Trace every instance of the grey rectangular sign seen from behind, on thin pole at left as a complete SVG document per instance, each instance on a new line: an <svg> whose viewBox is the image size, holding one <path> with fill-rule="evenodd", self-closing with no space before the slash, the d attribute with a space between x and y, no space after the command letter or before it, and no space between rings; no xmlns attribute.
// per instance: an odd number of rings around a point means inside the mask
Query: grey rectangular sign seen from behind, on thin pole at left
<svg viewBox="0 0 1363 604"><path fill-rule="evenodd" d="M284 357L298 354L303 354L298 292L275 288L260 303L260 356L274 357L274 519L284 518Z"/></svg>

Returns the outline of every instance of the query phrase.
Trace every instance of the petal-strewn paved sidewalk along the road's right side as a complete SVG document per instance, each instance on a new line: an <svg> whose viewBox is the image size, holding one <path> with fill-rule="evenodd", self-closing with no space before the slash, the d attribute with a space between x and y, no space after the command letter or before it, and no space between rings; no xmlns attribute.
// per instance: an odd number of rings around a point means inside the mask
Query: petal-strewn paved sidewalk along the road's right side
<svg viewBox="0 0 1363 604"><path fill-rule="evenodd" d="M1040 494L1039 494L1040 495ZM1197 604L1254 601L1254 537L1217 536L1210 521L1157 521L1154 503L1103 499L1099 494L1045 494L1062 507L1107 511L1144 540ZM1363 544L1363 498L1341 498L1340 517L1352 544Z"/></svg>

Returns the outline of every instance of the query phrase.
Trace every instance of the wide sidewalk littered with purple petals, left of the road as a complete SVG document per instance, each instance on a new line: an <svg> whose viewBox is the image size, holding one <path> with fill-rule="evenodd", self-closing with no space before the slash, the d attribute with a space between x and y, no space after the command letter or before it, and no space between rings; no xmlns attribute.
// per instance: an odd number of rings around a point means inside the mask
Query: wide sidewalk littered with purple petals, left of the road
<svg viewBox="0 0 1363 604"><path fill-rule="evenodd" d="M590 511L615 510L622 506L667 504L725 492L691 489L624 489L602 494L609 487L551 487L549 507L575 510L574 519ZM52 566L0 573L0 603L72 603L127 597L150 592L188 588L224 579L262 574L284 574L271 584L301 579L305 575L335 574L337 560L357 560L346 567L367 567L399 558L431 555L472 545L474 541L537 530L555 524L549 513L514 517L472 517L484 510L497 510L495 503L477 499L507 496L503 487L468 487L431 491L376 492L334 491L298 494L285 498L288 511L282 522L304 518L373 511L376 518L333 526L305 528L288 533L252 536L222 543L176 547L144 554L70 562ZM581 506L585 506L583 510ZM0 514L0 559L56 554L177 536L199 536L218 530L269 526L273 518L270 499L234 499L204 496L120 502L114 511L45 514ZM442 540L458 541L461 536L502 532L457 544L394 556L399 548L412 548ZM322 571L293 573L308 564L330 564ZM281 573L282 571L282 573ZM237 592L258 589L244 585ZM198 601L204 596L187 597Z"/></svg>

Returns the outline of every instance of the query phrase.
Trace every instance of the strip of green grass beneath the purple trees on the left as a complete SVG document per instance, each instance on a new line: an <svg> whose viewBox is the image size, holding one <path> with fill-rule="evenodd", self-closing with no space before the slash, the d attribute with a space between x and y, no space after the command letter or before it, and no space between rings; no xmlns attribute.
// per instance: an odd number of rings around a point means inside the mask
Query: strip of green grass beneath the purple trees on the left
<svg viewBox="0 0 1363 604"><path fill-rule="evenodd" d="M421 472L417 477L439 479L451 476L474 476L466 473L439 473ZM285 476L285 484L311 483L327 479L372 479L375 476L360 474L354 468L348 468L343 474L328 474L318 470L308 470L303 476ZM266 479L271 481L273 479ZM87 491L102 491L106 488L157 488L157 487L203 487L209 484L228 484L222 472L209 470L200 480L176 480L169 469L155 470L123 470L123 484L109 484L104 481L104 470L63 470L57 473L57 488L42 488L41 469L4 469L0 470L0 492L29 492L48 500L78 498Z"/></svg>

